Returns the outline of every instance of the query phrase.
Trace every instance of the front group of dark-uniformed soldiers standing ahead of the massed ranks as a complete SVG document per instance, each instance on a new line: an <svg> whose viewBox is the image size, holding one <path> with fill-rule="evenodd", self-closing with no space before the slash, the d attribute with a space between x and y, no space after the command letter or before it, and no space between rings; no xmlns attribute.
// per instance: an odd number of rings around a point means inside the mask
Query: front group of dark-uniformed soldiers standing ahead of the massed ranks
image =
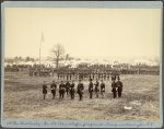
<svg viewBox="0 0 164 129"><path fill-rule="evenodd" d="M116 75L112 77L112 81L113 81L112 82L113 97L114 98L116 98L117 96L121 97L122 82L120 81L119 75L117 77L117 81L116 81ZM82 83L81 80L79 80L77 90L74 86L75 86L74 81L72 81L71 83L69 81L67 81L66 83L63 83L63 81L61 81L61 83L59 84L59 99L63 99L65 94L70 95L71 99L74 99L74 94L77 93L77 94L79 94L79 101L82 101L84 84ZM48 86L47 86L46 82L44 82L44 85L43 85L44 99L46 98L47 89L48 89ZM55 83L55 81L52 81L52 83L50 84L50 90L51 90L51 94L52 94L52 99L55 99L56 92L57 92L57 84ZM99 93L101 93L102 97L104 97L105 83L103 80L101 80L101 83L99 83L98 79L96 79L95 83L93 83L93 80L90 79L90 83L89 83L90 98L93 98L93 92L95 92L96 98L98 98Z"/></svg>

